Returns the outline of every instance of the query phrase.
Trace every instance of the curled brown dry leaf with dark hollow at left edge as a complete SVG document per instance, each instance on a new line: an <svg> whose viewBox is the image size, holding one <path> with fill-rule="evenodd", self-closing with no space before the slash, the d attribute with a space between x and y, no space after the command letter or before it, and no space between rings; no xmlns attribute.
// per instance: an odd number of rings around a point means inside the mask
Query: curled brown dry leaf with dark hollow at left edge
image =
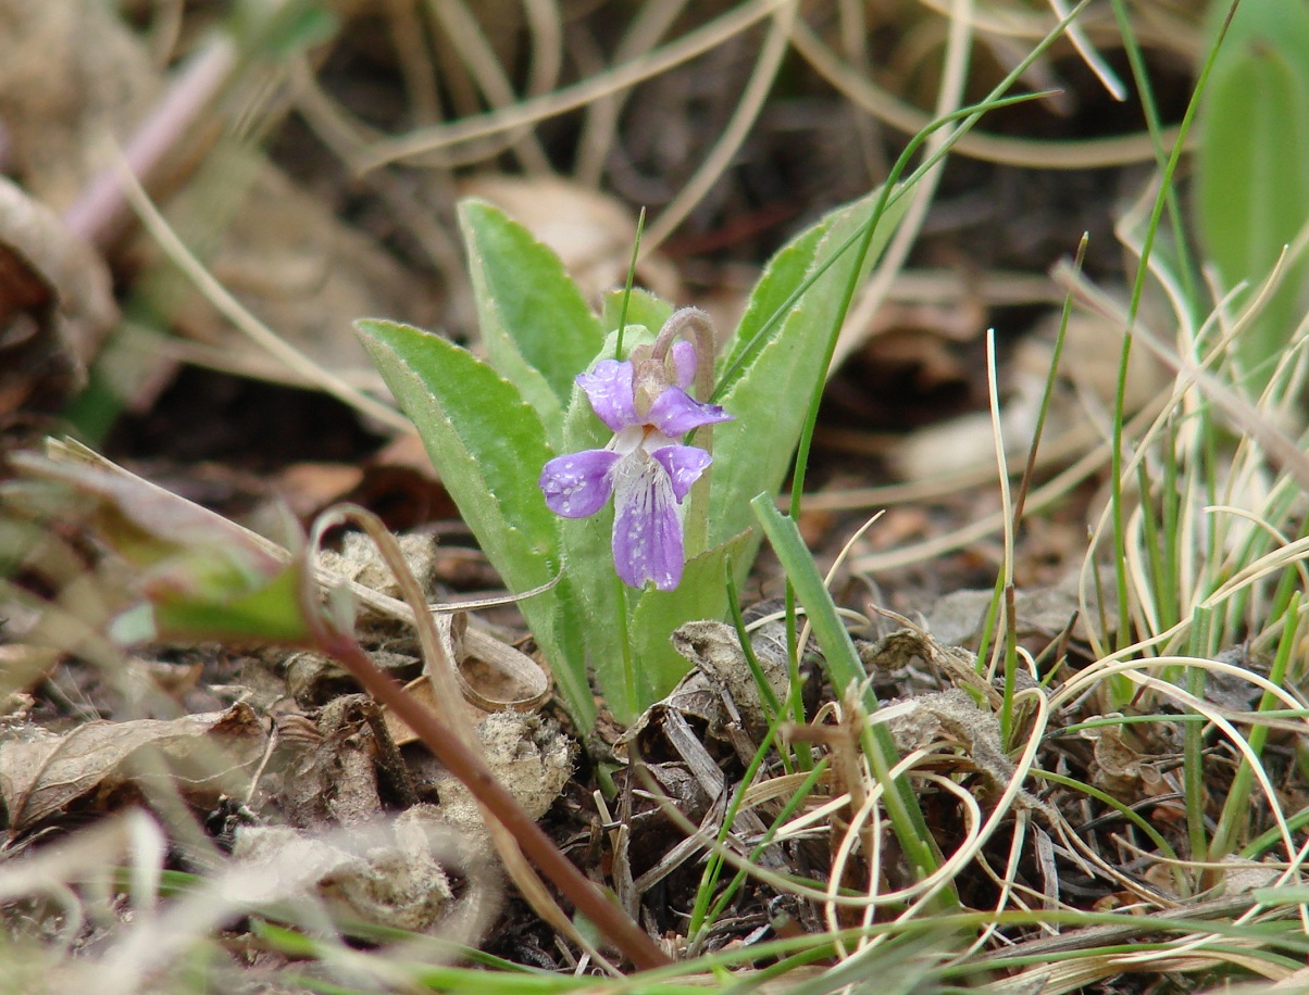
<svg viewBox="0 0 1309 995"><path fill-rule="evenodd" d="M103 260L0 178L0 416L59 404L81 387L117 318Z"/></svg>

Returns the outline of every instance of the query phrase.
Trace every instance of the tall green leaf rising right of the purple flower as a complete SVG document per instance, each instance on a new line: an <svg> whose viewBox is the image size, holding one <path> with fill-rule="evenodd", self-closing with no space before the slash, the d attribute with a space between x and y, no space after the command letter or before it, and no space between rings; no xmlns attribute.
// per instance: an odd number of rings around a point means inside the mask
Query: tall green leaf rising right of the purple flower
<svg viewBox="0 0 1309 995"><path fill-rule="evenodd" d="M787 476L813 386L827 374L826 345L840 320L842 293L855 252L846 250L826 271L822 268L868 221L877 196L877 191L869 194L796 238L770 261L751 294L728 369L742 356L745 365L717 399L734 421L713 429L711 545L745 531L754 520L747 502L761 492L775 494ZM898 207L882 214L861 276L872 269L906 203L907 197L901 197ZM768 327L768 315L806 280L813 282ZM747 345L761 329L766 331L758 344ZM737 574L742 581L757 548L758 539L744 553Z"/></svg>

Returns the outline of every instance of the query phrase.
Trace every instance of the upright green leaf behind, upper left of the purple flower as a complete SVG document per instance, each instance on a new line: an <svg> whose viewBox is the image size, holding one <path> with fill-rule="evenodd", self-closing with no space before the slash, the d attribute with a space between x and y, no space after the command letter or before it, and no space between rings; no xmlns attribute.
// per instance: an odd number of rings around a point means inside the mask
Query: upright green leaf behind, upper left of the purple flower
<svg viewBox="0 0 1309 995"><path fill-rule="evenodd" d="M600 352L600 322L559 256L501 211L465 200L459 226L487 357L558 445L573 378Z"/></svg>

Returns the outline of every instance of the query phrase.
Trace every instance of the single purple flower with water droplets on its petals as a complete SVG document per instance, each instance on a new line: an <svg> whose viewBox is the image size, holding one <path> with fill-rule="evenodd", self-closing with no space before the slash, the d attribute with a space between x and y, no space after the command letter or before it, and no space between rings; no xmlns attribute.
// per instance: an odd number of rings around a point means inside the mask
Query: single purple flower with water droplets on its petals
<svg viewBox="0 0 1309 995"><path fill-rule="evenodd" d="M682 581L679 506L712 462L704 450L675 439L732 418L686 392L695 378L690 343L675 343L670 352L672 369L645 361L637 373L631 361L601 360L577 377L614 438L602 450L556 456L541 472L546 505L564 518L594 515L613 494L618 575L632 587L653 581L661 591ZM668 382L669 375L675 383Z"/></svg>

